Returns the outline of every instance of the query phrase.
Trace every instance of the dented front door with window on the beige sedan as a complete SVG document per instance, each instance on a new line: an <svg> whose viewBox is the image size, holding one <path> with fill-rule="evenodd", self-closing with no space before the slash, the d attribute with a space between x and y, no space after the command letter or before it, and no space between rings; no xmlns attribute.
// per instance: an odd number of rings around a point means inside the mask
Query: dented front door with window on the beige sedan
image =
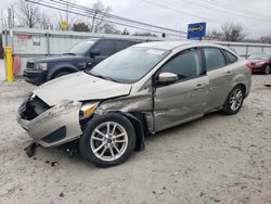
<svg viewBox="0 0 271 204"><path fill-rule="evenodd" d="M202 117L209 81L203 67L201 50L182 51L169 60L157 75L160 73L173 73L179 79L171 85L155 82L155 131Z"/></svg>

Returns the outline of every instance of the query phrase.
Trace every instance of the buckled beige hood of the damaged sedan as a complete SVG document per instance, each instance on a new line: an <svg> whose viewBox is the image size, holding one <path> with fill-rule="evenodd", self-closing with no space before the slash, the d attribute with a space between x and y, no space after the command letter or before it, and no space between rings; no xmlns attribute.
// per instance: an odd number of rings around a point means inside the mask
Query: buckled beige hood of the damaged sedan
<svg viewBox="0 0 271 204"><path fill-rule="evenodd" d="M51 80L34 90L34 93L52 106L64 100L88 101L127 95L131 85L105 80L79 72Z"/></svg>

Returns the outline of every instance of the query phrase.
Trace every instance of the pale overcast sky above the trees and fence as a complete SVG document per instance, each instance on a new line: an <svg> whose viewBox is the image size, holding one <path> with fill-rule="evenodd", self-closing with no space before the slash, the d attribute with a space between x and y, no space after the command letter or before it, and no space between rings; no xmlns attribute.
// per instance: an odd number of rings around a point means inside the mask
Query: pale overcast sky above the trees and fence
<svg viewBox="0 0 271 204"><path fill-rule="evenodd" d="M0 0L0 10L9 2ZM95 0L74 0L91 8ZM221 29L224 23L241 24L248 38L271 36L271 0L102 0L112 14L157 26L188 30L188 24L206 22L207 31ZM57 11L40 8L55 17ZM78 17L80 18L80 17ZM133 30L128 28L128 30Z"/></svg>

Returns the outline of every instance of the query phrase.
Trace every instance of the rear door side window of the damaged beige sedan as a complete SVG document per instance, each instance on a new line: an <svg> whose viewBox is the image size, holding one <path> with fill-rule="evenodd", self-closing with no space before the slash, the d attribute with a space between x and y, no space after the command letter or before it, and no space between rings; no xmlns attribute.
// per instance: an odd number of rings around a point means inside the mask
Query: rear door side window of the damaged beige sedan
<svg viewBox="0 0 271 204"><path fill-rule="evenodd" d="M224 56L218 48L205 48L204 54L207 71L214 71L225 65Z"/></svg>

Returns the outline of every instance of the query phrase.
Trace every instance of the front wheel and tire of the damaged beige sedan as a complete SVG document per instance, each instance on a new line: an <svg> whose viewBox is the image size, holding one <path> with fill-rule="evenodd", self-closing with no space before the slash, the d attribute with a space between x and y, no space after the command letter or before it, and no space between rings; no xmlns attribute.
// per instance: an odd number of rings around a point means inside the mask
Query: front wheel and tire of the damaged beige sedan
<svg viewBox="0 0 271 204"><path fill-rule="evenodd" d="M99 167L124 163L130 157L134 146L136 131L132 124L116 113L92 118L79 139L81 156Z"/></svg>

